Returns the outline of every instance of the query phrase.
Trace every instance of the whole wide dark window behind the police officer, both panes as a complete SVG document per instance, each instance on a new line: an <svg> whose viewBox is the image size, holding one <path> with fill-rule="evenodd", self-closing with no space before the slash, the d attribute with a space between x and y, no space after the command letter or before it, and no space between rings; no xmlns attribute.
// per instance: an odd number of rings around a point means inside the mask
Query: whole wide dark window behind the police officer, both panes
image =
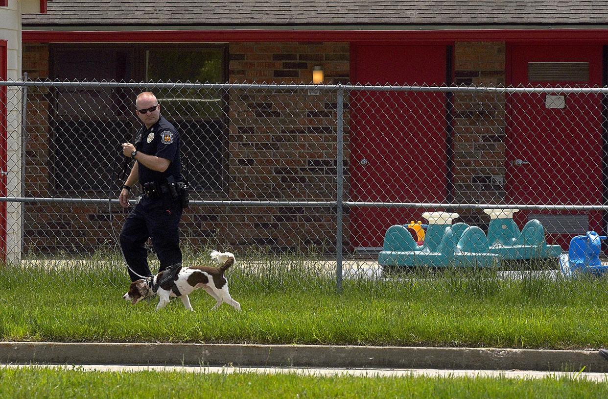
<svg viewBox="0 0 608 399"><path fill-rule="evenodd" d="M52 48L52 71L58 80L216 83L225 81L224 52L223 47L58 44ZM162 105L161 115L182 137L182 157L188 159L193 189L223 189L224 93L151 90ZM49 169L55 191L106 192L112 171L122 161L119 144L132 142L140 127L134 115L137 93L139 90L90 87L53 92Z"/></svg>

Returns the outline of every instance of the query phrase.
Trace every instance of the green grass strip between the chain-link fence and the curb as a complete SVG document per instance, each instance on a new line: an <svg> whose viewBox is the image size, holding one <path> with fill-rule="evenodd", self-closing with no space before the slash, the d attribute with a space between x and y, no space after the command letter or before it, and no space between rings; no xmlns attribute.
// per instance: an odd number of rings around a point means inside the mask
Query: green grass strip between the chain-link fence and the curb
<svg viewBox="0 0 608 399"><path fill-rule="evenodd" d="M284 270L282 280L229 274L235 312L206 292L195 312L173 299L122 300L122 268L0 269L0 339L61 342L431 345L599 348L608 344L608 281L502 280L490 272L334 281ZM122 274L121 274L122 272Z"/></svg>

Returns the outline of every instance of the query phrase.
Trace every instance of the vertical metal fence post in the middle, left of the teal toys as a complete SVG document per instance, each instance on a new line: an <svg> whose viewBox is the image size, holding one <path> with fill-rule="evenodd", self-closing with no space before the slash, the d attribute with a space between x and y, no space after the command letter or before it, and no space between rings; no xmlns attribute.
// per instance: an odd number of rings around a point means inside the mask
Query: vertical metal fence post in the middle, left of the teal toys
<svg viewBox="0 0 608 399"><path fill-rule="evenodd" d="M337 153L336 153L336 289L342 292L342 189L344 174L344 88L338 84L337 93Z"/></svg>

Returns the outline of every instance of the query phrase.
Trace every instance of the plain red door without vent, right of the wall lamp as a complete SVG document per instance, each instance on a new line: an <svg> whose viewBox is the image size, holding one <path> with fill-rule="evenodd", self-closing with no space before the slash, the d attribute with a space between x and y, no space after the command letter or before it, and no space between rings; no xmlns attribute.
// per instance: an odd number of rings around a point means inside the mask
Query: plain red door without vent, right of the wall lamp
<svg viewBox="0 0 608 399"><path fill-rule="evenodd" d="M355 81L380 85L443 85L446 46L355 48ZM446 198L446 95L360 91L351 94L351 199L443 202ZM426 210L353 208L350 246L382 246L393 224Z"/></svg>

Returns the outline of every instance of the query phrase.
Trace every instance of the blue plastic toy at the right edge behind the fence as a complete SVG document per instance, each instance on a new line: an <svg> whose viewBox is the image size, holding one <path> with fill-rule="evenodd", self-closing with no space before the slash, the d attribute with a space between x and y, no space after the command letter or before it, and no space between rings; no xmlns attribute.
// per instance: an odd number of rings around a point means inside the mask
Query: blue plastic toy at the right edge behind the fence
<svg viewBox="0 0 608 399"><path fill-rule="evenodd" d="M608 265L599 260L603 239L606 239L606 236L600 236L595 231L587 231L584 236L573 237L570 240L568 255L562 255L559 259L562 273L569 277L576 272L595 276L608 272Z"/></svg>

